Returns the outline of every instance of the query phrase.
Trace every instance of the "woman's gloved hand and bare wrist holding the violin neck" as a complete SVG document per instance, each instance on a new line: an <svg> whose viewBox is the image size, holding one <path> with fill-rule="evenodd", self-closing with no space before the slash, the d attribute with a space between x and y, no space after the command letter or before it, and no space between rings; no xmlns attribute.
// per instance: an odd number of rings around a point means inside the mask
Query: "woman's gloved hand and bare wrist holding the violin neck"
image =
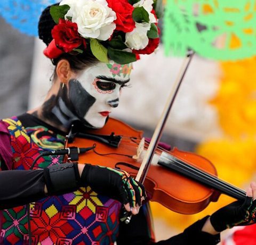
<svg viewBox="0 0 256 245"><path fill-rule="evenodd" d="M250 225L256 222L256 183L246 191L244 201L235 201L213 213L206 221L202 231L215 234L238 225Z"/></svg>

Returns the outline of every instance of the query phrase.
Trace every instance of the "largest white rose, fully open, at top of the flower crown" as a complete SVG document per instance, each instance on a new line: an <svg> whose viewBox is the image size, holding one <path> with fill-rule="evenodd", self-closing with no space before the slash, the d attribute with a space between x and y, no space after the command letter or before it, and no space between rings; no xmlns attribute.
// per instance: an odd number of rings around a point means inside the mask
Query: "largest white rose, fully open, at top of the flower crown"
<svg viewBox="0 0 256 245"><path fill-rule="evenodd" d="M116 13L108 7L106 0L63 1L63 4L70 6L66 17L72 14L72 22L77 23L78 32L82 37L107 40L113 34L116 28Z"/></svg>

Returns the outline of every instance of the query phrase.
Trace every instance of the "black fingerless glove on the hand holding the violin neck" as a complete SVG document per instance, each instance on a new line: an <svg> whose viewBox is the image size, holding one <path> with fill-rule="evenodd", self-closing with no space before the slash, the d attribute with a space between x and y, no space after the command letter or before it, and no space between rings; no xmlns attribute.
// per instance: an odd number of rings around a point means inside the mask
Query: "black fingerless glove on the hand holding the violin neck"
<svg viewBox="0 0 256 245"><path fill-rule="evenodd" d="M217 210L210 217L210 222L215 231L221 232L237 225L254 223L256 202L251 197L244 201L235 201Z"/></svg>

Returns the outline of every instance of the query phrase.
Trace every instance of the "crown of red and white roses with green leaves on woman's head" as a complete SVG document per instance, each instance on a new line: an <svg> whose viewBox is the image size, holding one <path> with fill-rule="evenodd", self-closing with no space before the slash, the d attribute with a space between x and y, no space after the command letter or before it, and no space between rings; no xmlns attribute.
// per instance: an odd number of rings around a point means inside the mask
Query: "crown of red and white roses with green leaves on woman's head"
<svg viewBox="0 0 256 245"><path fill-rule="evenodd" d="M90 48L101 62L136 61L159 44L156 6L157 0L62 0L51 6L57 25L44 54L55 59Z"/></svg>

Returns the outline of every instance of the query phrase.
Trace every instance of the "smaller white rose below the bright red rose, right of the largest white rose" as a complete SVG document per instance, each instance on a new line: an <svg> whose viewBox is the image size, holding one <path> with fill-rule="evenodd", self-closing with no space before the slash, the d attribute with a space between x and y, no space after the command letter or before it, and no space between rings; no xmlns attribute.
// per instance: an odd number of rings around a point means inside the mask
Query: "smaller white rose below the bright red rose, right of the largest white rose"
<svg viewBox="0 0 256 245"><path fill-rule="evenodd" d="M133 50L143 50L148 45L149 23L135 23L135 28L125 34L125 44Z"/></svg>

